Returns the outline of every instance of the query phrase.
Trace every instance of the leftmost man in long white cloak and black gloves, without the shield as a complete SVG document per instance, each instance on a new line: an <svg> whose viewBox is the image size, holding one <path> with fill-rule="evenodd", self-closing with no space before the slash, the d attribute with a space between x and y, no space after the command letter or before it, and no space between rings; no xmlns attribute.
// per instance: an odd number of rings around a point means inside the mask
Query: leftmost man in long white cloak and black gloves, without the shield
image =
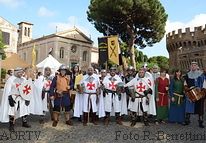
<svg viewBox="0 0 206 143"><path fill-rule="evenodd" d="M29 104L30 104L30 90L28 89L28 95L25 99L20 93L21 84L23 84L26 79L23 78L23 69L16 68L14 70L14 76L9 77L7 80L1 101L1 122L9 122L9 130L14 131L15 120L22 117L22 126L30 128L31 126L27 123L27 116L30 114ZM29 97L28 97L29 96ZM21 110L20 110L21 108Z"/></svg>

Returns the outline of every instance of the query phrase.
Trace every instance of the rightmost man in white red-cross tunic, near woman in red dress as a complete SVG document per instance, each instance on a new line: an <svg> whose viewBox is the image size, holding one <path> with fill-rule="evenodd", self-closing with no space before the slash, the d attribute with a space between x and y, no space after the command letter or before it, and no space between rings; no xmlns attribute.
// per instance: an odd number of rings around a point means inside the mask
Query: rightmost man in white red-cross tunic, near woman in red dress
<svg viewBox="0 0 206 143"><path fill-rule="evenodd" d="M148 84L148 77L145 77L145 69L140 68L138 76L128 82L125 87L133 88L130 95L128 109L132 112L131 127L135 126L137 116L143 116L145 126L148 126L148 111L149 111L149 96L152 94L152 89Z"/></svg>

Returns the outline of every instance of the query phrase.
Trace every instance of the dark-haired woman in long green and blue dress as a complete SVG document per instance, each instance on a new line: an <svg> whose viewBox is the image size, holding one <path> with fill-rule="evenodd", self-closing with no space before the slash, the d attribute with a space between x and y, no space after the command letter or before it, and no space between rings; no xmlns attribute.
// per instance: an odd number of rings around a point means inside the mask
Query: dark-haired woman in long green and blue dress
<svg viewBox="0 0 206 143"><path fill-rule="evenodd" d="M174 78L171 79L169 86L170 109L169 122L184 123L185 121L185 95L184 80L182 72L177 69L174 72Z"/></svg>

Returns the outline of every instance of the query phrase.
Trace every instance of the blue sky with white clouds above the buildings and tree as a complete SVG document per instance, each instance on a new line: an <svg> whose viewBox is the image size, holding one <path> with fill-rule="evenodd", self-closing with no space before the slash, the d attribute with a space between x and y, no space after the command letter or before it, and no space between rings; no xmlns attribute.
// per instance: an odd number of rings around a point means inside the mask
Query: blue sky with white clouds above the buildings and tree
<svg viewBox="0 0 206 143"><path fill-rule="evenodd" d="M168 14L166 31L206 24L206 0L160 0ZM90 0L0 0L0 16L14 25L21 21L34 24L33 38L76 26L94 41L102 34L87 20ZM165 38L142 51L149 57L168 57Z"/></svg>

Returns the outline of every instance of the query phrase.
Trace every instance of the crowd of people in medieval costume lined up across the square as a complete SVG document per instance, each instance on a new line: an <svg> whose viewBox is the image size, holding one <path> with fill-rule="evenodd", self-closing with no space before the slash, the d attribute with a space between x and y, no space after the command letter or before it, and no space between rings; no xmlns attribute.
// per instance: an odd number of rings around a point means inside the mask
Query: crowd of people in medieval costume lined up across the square
<svg viewBox="0 0 206 143"><path fill-rule="evenodd" d="M50 67L43 74L16 68L13 74L9 71L4 87L0 122L8 122L9 130L14 131L16 119L22 118L22 126L30 128L29 115L39 115L40 124L44 124L49 113L56 127L63 112L69 126L73 125L71 113L83 126L88 122L97 125L98 118L107 126L111 116L119 125L129 116L131 127L136 122L149 126L151 121L189 125L191 114L198 114L199 127L204 128L205 88L206 68L201 71L196 62L188 73L182 75L177 69L173 76L156 65L138 71L130 66L123 74L114 66L100 73L88 67L83 74L78 65L71 71L61 65L55 75Z"/></svg>

